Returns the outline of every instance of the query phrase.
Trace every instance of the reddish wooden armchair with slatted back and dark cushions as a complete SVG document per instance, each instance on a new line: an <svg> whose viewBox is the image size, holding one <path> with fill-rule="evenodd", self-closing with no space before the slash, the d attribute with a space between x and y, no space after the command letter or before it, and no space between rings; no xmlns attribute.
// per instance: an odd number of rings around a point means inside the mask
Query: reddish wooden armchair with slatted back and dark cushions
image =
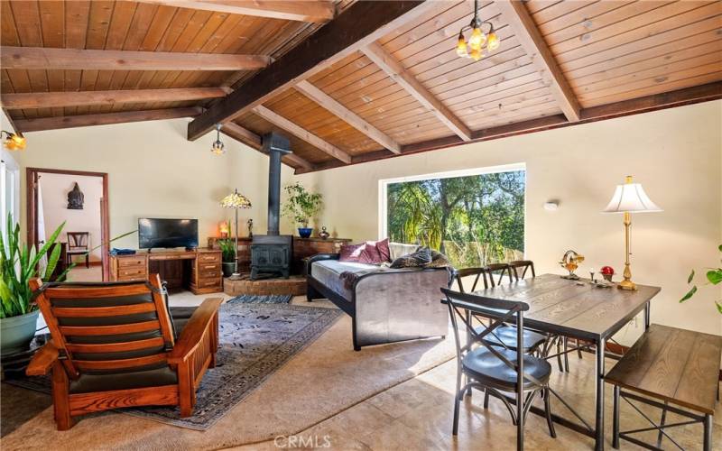
<svg viewBox="0 0 722 451"><path fill-rule="evenodd" d="M192 314L180 308L173 321L158 274L150 282L36 279L31 288L51 341L26 373L52 371L59 430L75 416L132 406L177 405L181 417L190 416L203 374L216 365L223 299L205 299Z"/></svg>

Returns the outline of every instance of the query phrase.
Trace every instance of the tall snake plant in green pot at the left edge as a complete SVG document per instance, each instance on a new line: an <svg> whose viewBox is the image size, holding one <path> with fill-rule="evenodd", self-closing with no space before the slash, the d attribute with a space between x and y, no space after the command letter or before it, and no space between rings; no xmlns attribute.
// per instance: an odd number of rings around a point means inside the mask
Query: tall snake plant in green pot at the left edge
<svg viewBox="0 0 722 451"><path fill-rule="evenodd" d="M60 259L60 244L56 243L65 223L52 233L42 248L20 243L20 225L13 226L13 217L7 216L7 242L0 235L0 354L22 351L35 336L38 307L32 301L30 280L38 277L38 262L48 253L48 266L43 279L48 280ZM72 266L70 266L72 267ZM60 274L63 280L69 268Z"/></svg>

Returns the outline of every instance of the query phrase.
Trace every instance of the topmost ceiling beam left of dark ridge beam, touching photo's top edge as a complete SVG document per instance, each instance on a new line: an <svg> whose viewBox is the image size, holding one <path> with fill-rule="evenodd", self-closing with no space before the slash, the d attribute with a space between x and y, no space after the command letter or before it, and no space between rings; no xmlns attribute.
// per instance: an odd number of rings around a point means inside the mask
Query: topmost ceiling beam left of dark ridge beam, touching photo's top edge
<svg viewBox="0 0 722 451"><path fill-rule="evenodd" d="M333 19L336 7L332 2L316 0L141 0L143 3L179 8L243 14L287 21L325 23Z"/></svg>

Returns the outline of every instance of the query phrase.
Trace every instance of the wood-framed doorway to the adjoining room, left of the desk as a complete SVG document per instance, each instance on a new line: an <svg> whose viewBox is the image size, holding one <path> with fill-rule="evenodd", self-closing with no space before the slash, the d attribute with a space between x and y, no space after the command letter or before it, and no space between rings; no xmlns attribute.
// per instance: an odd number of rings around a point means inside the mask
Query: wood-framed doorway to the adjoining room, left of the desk
<svg viewBox="0 0 722 451"><path fill-rule="evenodd" d="M58 236L63 248L61 263L72 261L77 268L87 264L87 270L78 271L78 281L108 281L107 173L27 168L26 176L28 243L41 247L64 221L66 226ZM83 247L91 251L87 260Z"/></svg>

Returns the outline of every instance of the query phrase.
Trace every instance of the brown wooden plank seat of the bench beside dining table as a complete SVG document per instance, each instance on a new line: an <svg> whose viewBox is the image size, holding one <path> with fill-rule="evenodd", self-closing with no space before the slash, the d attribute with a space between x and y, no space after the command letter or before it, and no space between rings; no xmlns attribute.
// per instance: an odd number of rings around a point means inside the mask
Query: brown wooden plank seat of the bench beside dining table
<svg viewBox="0 0 722 451"><path fill-rule="evenodd" d="M722 336L653 324L607 382L713 415Z"/></svg>

